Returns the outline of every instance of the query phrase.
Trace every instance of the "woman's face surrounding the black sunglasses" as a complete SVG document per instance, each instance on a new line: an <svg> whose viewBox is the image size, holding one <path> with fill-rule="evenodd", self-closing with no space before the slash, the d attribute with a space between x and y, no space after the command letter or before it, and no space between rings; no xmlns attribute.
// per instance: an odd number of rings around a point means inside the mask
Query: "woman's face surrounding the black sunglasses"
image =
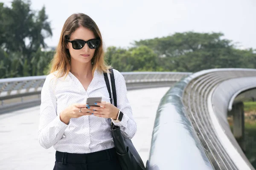
<svg viewBox="0 0 256 170"><path fill-rule="evenodd" d="M79 28L74 31L70 36L70 41L72 40L90 40L96 38L93 34L93 31L90 31L88 28L84 28L83 26L80 26ZM94 56L95 49L90 49L87 45L87 43L84 45L83 48L79 50L75 50L72 47L72 43L67 43L67 48L70 51L71 61L76 60L78 62L87 63L91 61L91 59Z"/></svg>

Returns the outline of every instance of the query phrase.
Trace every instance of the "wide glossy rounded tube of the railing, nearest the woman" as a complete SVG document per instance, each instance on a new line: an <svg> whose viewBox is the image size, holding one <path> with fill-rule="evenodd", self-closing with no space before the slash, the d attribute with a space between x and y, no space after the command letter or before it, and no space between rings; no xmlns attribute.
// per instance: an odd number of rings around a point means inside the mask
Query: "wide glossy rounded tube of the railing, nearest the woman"
<svg viewBox="0 0 256 170"><path fill-rule="evenodd" d="M161 99L152 132L147 170L213 170L186 115L182 95L188 78Z"/></svg>

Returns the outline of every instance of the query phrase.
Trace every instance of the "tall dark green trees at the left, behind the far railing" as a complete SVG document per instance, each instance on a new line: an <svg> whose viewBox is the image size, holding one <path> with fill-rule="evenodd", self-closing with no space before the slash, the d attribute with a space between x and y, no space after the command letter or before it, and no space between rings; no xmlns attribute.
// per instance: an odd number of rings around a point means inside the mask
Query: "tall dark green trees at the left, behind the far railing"
<svg viewBox="0 0 256 170"><path fill-rule="evenodd" d="M0 3L0 48L4 51L0 59L5 59L8 65L1 69L11 77L42 75L48 66L49 59L44 57L44 52L38 53L47 47L45 38L52 36L48 16L45 7L37 12L30 6L30 1L23 0L13 0L11 7Z"/></svg>

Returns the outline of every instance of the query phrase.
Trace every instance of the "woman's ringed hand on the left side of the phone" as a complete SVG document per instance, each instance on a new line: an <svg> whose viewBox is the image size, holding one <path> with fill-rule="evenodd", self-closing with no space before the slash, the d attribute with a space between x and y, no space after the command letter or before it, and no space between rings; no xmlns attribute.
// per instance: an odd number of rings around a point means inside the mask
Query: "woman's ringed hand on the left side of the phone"
<svg viewBox="0 0 256 170"><path fill-rule="evenodd" d="M88 113L88 111L90 110L86 108L87 106L87 104L79 103L68 106L60 113L61 122L64 122L67 125L71 118L78 118L81 116L91 115L91 113ZM80 108L82 112L79 112Z"/></svg>

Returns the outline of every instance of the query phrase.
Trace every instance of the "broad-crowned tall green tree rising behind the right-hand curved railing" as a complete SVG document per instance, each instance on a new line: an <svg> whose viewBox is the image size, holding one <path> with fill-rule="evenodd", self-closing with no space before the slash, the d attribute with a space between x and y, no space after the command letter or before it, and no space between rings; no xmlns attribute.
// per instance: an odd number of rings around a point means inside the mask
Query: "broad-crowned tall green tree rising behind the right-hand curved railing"
<svg viewBox="0 0 256 170"><path fill-rule="evenodd" d="M222 33L175 33L172 36L135 41L156 53L165 71L201 71L210 68L256 68L255 52L239 50ZM249 62L250 61L250 62Z"/></svg>

